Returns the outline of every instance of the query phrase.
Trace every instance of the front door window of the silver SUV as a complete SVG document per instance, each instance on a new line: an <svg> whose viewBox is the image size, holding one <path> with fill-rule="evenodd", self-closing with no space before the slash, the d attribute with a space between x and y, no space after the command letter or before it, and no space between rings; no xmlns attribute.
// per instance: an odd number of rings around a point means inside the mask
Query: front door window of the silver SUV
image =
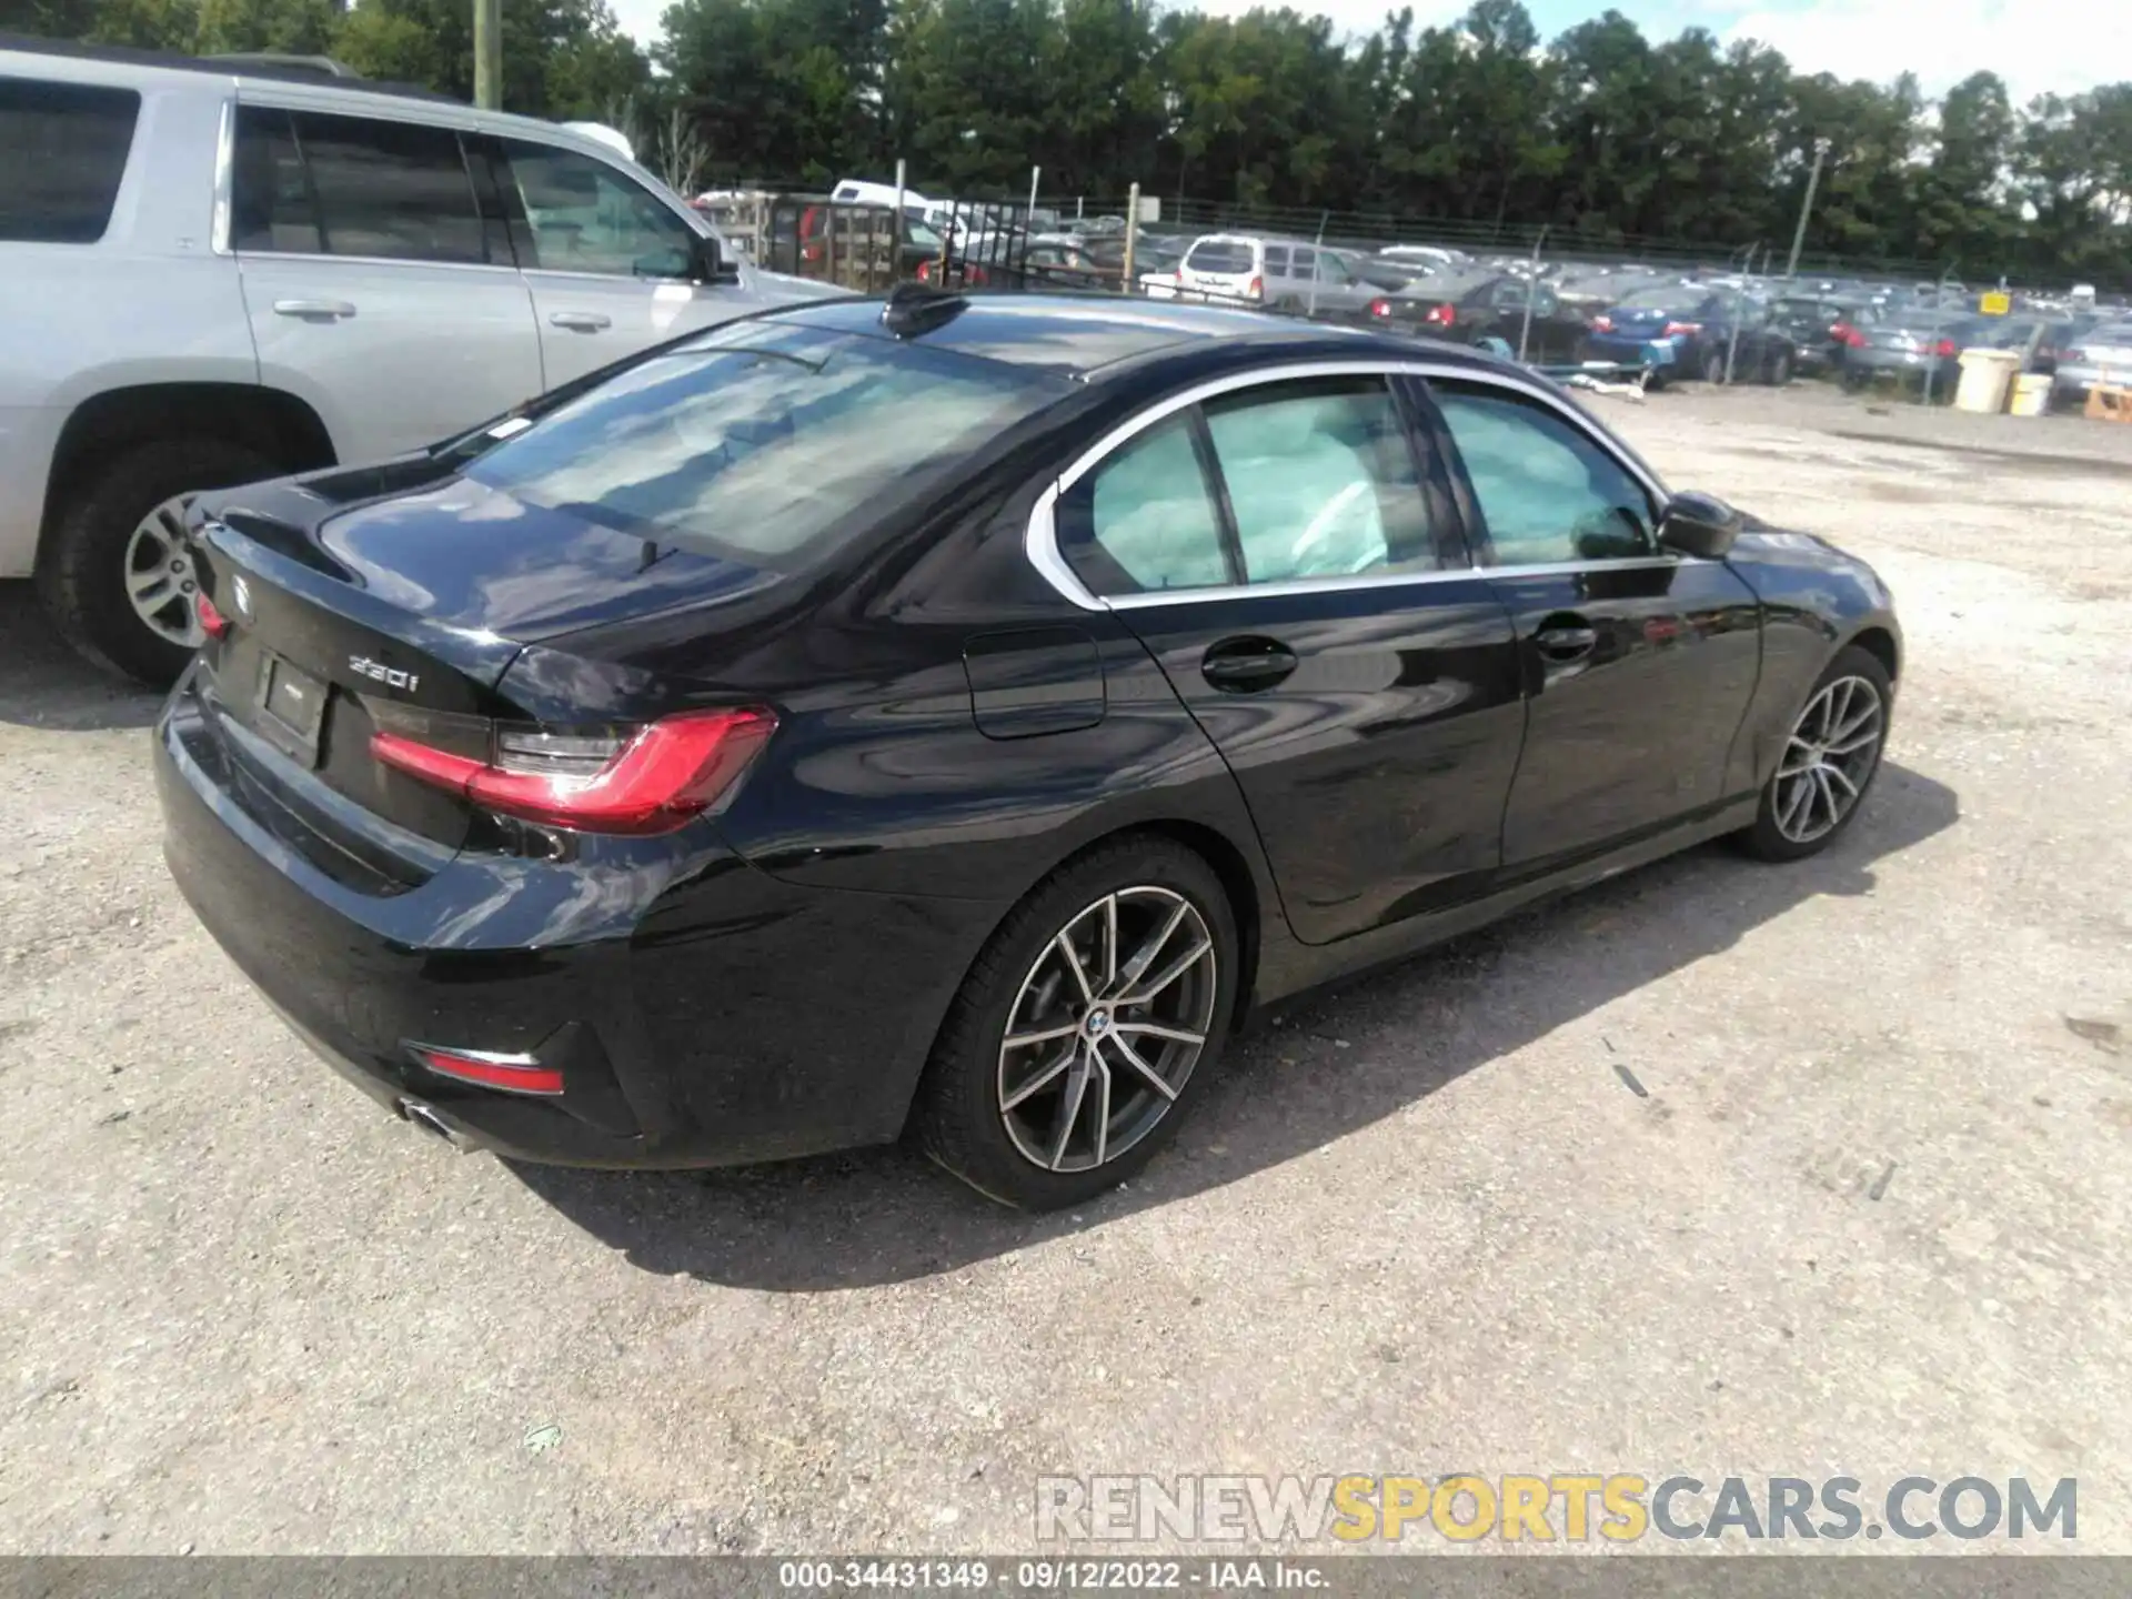
<svg viewBox="0 0 2132 1599"><path fill-rule="evenodd" d="M574 149L505 139L503 154L524 207L527 266L612 277L689 275L697 235L650 190Z"/></svg>

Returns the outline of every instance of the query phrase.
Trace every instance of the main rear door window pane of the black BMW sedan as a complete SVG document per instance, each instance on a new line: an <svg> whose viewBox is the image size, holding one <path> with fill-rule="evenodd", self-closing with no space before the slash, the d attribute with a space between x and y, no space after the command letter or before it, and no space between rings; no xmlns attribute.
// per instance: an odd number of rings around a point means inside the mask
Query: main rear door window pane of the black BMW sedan
<svg viewBox="0 0 2132 1599"><path fill-rule="evenodd" d="M1245 582L1431 571L1407 426L1379 377L1273 384L1207 403Z"/></svg>

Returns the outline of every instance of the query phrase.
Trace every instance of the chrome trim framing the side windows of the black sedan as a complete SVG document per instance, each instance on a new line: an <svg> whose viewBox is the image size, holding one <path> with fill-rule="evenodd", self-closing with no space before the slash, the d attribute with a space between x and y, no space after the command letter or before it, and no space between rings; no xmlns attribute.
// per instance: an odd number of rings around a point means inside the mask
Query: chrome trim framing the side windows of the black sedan
<svg viewBox="0 0 2132 1599"><path fill-rule="evenodd" d="M1320 595L1320 593L1343 593L1352 588L1388 588L1388 586L1418 586L1428 582L1463 582L1471 578L1524 578L1524 576L1554 576L1554 574L1580 574L1580 571L1629 571L1637 567L1678 567L1689 561L1699 561L1699 556L1682 554L1644 554L1629 556L1625 561L1541 561L1529 565L1465 565L1465 567L1439 567L1435 571L1386 571L1386 574L1358 574L1354 578L1292 578L1288 582L1258 582L1258 584L1220 584L1213 588L1156 588L1138 595L1111 595L1102 597L1089 591L1075 574L1072 565L1057 548L1057 501L1060 495L1079 484L1087 473L1111 458L1119 448L1130 443L1134 437L1147 429L1164 422L1166 418L1183 411L1202 401L1215 399L1220 394L1234 394L1243 388L1262 388L1266 384L1283 384L1307 377L1382 377L1390 382L1392 377L1450 377L1458 382L1490 384L1495 388L1505 388L1514 394L1524 394L1527 399L1537 399L1550 411L1576 426L1597 450L1603 450L1616 467L1629 473L1644 490L1650 495L1654 505L1665 505L1669 495L1665 486L1659 484L1642 465L1625 458L1620 450L1599 431L1599 426L1584 416L1576 405L1565 401L1561 394L1550 392L1537 382L1518 377L1516 373L1486 371L1475 367L1454 367L1450 362L1437 360L1298 360L1288 367L1258 367L1247 373L1228 373L1226 377L1211 377L1205 384L1194 384L1192 388L1170 394L1168 399L1134 414L1126 422L1104 433L1096 443L1083 450L1066 471L1057 475L1057 482L1049 484L1043 495L1038 495L1036 505L1030 510L1030 524L1023 531L1021 548L1036 574L1051 584L1066 601L1079 610L1145 610L1149 605L1190 605L1207 603L1215 599L1247 599L1251 595Z"/></svg>

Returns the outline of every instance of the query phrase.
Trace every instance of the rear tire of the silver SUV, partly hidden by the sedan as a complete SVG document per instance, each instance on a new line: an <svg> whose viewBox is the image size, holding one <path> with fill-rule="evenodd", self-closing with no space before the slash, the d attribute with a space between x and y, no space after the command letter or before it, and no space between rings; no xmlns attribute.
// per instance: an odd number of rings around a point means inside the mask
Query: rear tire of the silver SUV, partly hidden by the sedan
<svg viewBox="0 0 2132 1599"><path fill-rule="evenodd" d="M194 646L158 631L134 608L128 580L156 537L149 518L181 495L273 475L266 456L209 437L141 443L98 469L51 518L38 552L36 591L60 635L98 665L166 687ZM190 571L175 582L166 618L190 610Z"/></svg>

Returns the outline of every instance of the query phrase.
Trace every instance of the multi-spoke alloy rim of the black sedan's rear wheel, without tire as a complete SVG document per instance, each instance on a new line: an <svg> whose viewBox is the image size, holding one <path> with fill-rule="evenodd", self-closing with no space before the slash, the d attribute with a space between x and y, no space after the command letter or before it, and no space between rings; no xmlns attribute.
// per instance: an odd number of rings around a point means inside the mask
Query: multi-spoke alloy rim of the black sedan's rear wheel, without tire
<svg viewBox="0 0 2132 1599"><path fill-rule="evenodd" d="M1220 991L1207 919L1138 885L1075 915L1030 964L1000 1038L998 1107L1036 1166L1117 1160L1183 1094Z"/></svg>

